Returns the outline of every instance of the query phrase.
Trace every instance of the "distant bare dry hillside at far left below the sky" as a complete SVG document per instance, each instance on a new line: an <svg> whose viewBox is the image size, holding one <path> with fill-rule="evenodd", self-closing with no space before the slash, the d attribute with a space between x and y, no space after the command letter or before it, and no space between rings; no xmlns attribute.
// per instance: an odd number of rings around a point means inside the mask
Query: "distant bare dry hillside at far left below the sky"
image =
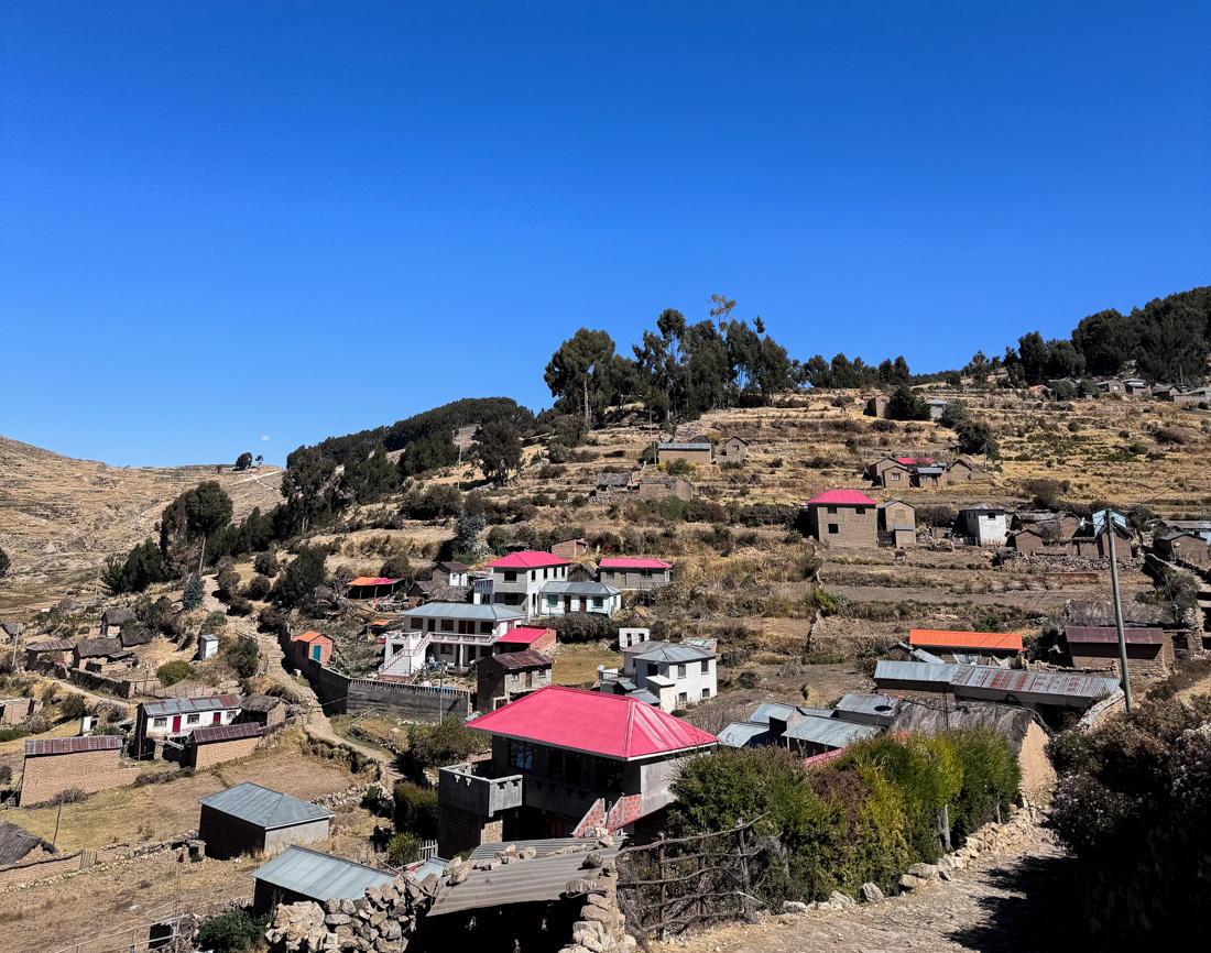
<svg viewBox="0 0 1211 953"><path fill-rule="evenodd" d="M0 437L0 546L13 563L0 591L12 596L79 580L108 556L154 535L163 507L203 480L223 484L236 518L281 499L277 467L254 473L230 465L216 469L108 466Z"/></svg>

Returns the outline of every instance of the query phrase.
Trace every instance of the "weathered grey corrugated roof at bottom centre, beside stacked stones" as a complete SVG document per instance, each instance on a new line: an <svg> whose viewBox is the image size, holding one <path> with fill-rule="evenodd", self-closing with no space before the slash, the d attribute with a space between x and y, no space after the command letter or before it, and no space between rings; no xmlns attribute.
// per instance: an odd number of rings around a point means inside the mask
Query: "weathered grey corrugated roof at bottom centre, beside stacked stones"
<svg viewBox="0 0 1211 953"><path fill-rule="evenodd" d="M504 907L510 903L530 903L534 901L558 900L568 880L592 874L593 871L581 871L585 854L595 850L596 842L576 838L555 840L515 840L518 850L533 846L539 856L530 860L504 863L494 871L471 871L466 880L457 886L442 884L437 899L429 911L429 917L441 917L464 909L484 907ZM509 844L482 844L472 852L472 860L486 860L503 851ZM553 854L561 846L581 846L574 854ZM599 848L602 859L609 863L619 851L619 846Z"/></svg>

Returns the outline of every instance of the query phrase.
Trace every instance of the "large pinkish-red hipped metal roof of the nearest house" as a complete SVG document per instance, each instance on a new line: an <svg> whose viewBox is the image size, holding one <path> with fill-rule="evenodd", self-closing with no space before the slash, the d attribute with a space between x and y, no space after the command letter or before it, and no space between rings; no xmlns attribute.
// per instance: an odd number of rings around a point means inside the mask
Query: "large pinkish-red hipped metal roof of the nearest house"
<svg viewBox="0 0 1211 953"><path fill-rule="evenodd" d="M467 727L586 754L633 760L713 745L714 735L626 695L547 685Z"/></svg>

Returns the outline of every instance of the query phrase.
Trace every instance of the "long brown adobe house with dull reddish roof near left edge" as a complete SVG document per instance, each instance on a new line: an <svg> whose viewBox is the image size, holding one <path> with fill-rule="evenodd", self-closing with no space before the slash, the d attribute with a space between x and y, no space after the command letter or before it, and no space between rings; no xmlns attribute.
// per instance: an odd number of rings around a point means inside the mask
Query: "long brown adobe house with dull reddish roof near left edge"
<svg viewBox="0 0 1211 953"><path fill-rule="evenodd" d="M27 741L22 806L53 802L64 791L93 794L133 782L139 769L122 768L121 753L122 739L117 735Z"/></svg>

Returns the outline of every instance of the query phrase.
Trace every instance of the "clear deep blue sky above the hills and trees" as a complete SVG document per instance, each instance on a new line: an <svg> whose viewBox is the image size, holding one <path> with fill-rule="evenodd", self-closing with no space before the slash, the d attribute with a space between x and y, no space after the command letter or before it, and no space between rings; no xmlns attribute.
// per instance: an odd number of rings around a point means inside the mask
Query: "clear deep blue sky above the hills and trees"
<svg viewBox="0 0 1211 953"><path fill-rule="evenodd" d="M275 463L712 292L917 371L1211 282L1211 4L0 5L0 434Z"/></svg>

